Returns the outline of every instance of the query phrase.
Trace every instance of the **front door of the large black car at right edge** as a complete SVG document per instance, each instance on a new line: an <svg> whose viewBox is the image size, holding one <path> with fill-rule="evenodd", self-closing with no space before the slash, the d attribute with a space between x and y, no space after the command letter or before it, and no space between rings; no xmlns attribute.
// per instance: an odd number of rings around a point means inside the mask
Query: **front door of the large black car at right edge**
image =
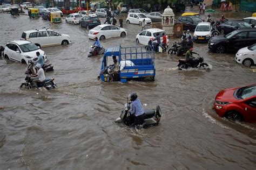
<svg viewBox="0 0 256 170"><path fill-rule="evenodd" d="M230 39L228 39L228 50L237 52L239 49L248 46L248 42L246 42L247 34L247 31L239 32Z"/></svg>

